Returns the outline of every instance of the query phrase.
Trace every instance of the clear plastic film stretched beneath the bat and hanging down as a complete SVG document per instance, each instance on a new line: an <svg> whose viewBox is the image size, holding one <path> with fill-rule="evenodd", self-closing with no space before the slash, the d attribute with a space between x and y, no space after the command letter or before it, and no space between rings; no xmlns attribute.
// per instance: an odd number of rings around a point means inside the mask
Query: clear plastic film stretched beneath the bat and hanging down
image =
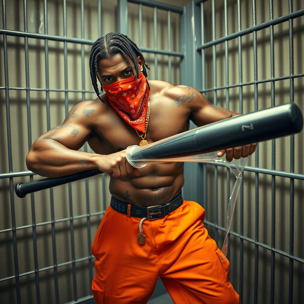
<svg viewBox="0 0 304 304"><path fill-rule="evenodd" d="M152 143L153 145L153 143ZM147 147L147 146L146 146ZM223 164L227 168L230 169L230 171L233 172L236 181L234 182L234 185L232 187L232 190L230 192L229 202L227 206L227 223L226 223L226 236L224 239L223 247L221 251L223 254L227 255L227 246L228 246L228 233L231 228L233 213L235 204L237 201L237 195L240 190L240 185L242 182L242 172L244 171L244 167L247 161L247 157L240 159L233 159L231 162L226 161L226 155L224 154L222 157L217 157L217 151L216 152L210 152L205 154L197 154L197 155L186 155L186 156L178 156L178 157L169 157L169 158L146 158L140 155L140 152L144 147L139 146L129 146L126 149L126 158L128 162L135 168L143 168L147 164L155 164L155 163L165 163L165 162L200 162L200 163L209 163L209 164ZM132 155L136 152L136 159L132 158Z"/></svg>

